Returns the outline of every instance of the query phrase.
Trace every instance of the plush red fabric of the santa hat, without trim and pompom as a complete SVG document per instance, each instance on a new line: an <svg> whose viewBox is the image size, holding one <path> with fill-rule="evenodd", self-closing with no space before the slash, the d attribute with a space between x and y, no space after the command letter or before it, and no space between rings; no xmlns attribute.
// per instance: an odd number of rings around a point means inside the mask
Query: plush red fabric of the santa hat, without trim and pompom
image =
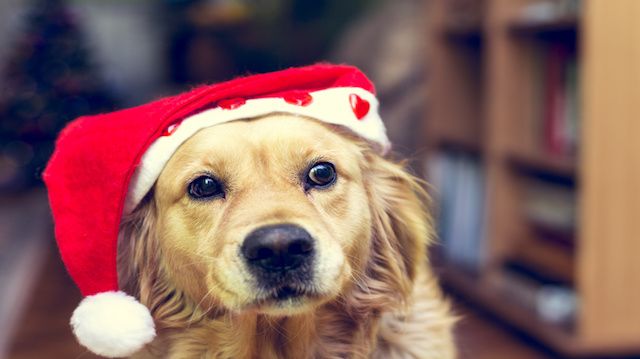
<svg viewBox="0 0 640 359"><path fill-rule="evenodd" d="M172 124L233 98L373 85L351 66L318 64L196 88L139 107L81 117L60 134L44 172L62 259L83 295L117 290L117 236L140 158Z"/></svg>

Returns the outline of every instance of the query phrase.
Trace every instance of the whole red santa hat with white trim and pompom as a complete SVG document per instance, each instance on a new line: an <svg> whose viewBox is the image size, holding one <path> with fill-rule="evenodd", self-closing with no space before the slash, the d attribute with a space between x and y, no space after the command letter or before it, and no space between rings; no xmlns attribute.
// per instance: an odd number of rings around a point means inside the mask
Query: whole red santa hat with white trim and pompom
<svg viewBox="0 0 640 359"><path fill-rule="evenodd" d="M96 354L128 356L155 337L149 310L119 291L120 220L152 188L177 148L199 130L270 113L342 126L389 149L371 82L350 66L314 65L204 86L109 114L60 134L44 172L62 259L85 296L71 325Z"/></svg>

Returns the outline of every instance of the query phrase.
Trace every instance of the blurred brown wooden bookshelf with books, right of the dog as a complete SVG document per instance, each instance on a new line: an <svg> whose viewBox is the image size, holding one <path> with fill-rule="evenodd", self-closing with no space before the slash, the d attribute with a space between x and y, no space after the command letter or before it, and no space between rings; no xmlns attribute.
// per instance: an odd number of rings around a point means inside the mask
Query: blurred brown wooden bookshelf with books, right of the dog
<svg viewBox="0 0 640 359"><path fill-rule="evenodd" d="M428 11L443 284L559 354L640 354L640 2Z"/></svg>

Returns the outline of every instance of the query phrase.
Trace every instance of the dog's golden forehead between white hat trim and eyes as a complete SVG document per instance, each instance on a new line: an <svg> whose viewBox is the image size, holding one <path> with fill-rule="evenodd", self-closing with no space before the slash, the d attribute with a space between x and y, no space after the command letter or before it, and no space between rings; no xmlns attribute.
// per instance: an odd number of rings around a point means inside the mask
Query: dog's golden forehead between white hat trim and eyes
<svg viewBox="0 0 640 359"><path fill-rule="evenodd" d="M360 178L357 141L329 125L291 115L271 115L205 128L183 143L159 179L159 187L182 188L202 173L238 186L256 178L297 178L312 162L333 163L345 178ZM256 177L256 173L261 176ZM265 177L266 176L266 177Z"/></svg>

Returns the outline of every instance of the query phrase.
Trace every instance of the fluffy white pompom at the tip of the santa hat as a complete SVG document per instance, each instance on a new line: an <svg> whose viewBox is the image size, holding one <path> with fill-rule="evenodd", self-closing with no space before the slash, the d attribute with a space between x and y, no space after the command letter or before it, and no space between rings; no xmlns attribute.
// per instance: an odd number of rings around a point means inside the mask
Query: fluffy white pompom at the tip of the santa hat
<svg viewBox="0 0 640 359"><path fill-rule="evenodd" d="M123 292L84 298L71 316L71 327L80 344L109 358L129 356L156 335L149 309Z"/></svg>

